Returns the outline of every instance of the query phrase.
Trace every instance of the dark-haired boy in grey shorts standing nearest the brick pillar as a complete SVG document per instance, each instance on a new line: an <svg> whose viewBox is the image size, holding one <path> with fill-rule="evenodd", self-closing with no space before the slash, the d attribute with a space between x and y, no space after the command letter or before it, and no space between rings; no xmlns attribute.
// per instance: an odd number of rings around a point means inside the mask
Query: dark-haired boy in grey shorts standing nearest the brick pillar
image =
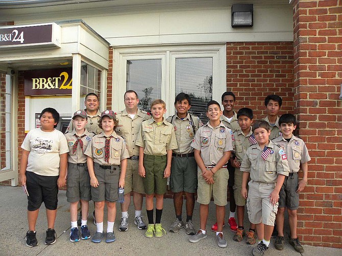
<svg viewBox="0 0 342 256"><path fill-rule="evenodd" d="M290 174L285 177L283 186L279 193L279 207L277 214L278 237L275 247L284 249L284 212L288 212L288 223L290 225L290 245L296 251L303 253L304 248L297 237L297 209L299 208L299 192L302 192L307 183L308 162L311 160L308 149L303 140L293 135L296 129L296 117L292 114L284 114L279 118L281 136L272 140L277 146L284 149L287 156ZM303 179L298 182L299 168L303 170Z"/></svg>

